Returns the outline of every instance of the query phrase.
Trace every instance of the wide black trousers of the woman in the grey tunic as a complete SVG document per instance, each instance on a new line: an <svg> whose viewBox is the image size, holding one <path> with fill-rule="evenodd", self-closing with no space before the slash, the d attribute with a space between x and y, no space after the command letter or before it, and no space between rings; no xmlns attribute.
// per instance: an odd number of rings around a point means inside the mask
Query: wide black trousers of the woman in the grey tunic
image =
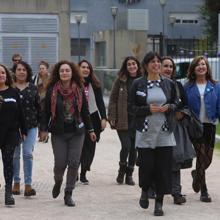
<svg viewBox="0 0 220 220"><path fill-rule="evenodd" d="M171 146L138 148L139 186L143 191L147 192L154 183L158 196L171 194L172 150Z"/></svg>

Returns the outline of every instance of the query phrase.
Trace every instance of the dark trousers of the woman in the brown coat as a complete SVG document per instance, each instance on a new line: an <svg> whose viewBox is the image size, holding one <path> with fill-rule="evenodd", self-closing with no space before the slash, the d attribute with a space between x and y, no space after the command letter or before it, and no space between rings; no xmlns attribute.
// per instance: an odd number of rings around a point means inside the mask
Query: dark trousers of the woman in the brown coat
<svg viewBox="0 0 220 220"><path fill-rule="evenodd" d="M135 131L117 130L117 133L121 142L120 162L127 163L128 166L134 167L137 158Z"/></svg>

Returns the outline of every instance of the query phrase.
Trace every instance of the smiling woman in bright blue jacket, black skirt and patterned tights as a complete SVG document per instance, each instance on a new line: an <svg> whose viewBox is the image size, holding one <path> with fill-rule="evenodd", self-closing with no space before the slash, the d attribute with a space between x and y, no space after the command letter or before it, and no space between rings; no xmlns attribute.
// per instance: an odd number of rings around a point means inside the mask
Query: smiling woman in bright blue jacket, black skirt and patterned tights
<svg viewBox="0 0 220 220"><path fill-rule="evenodd" d="M212 162L216 123L220 118L220 84L212 79L208 61L203 56L193 59L188 69L186 91L188 106L203 123L203 136L193 143L197 160L192 171L193 190L201 191L200 200L211 202L206 185L206 169Z"/></svg>

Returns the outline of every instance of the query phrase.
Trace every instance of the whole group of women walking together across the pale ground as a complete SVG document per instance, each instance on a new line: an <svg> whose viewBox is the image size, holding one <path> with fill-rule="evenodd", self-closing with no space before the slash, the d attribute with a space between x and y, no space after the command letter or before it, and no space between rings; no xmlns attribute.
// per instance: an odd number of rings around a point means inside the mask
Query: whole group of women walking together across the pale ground
<svg viewBox="0 0 220 220"><path fill-rule="evenodd" d="M34 145L37 135L39 141L47 142L50 132L54 154L52 196L59 196L67 169L64 203L74 206L72 191L78 179L89 184L86 173L107 118L121 143L116 182L135 185L133 172L137 165L142 208L149 206L150 190L155 197L155 216L164 215L165 194L172 194L174 204L185 203L180 170L192 167L195 156L193 190L201 192L202 202L211 202L205 172L212 161L220 118L220 85L212 79L206 58L194 58L188 81L182 85L175 79L172 58L148 52L140 63L135 57L126 57L112 85L108 116L100 81L87 60L78 65L59 61L50 74L46 62L39 67L41 74L33 83L30 66L19 61L13 68L13 82L8 69L0 65L0 148L6 205L14 205L12 194L21 192L21 147L24 196L36 195L32 187ZM196 140L188 134L186 109L203 123L203 135Z"/></svg>

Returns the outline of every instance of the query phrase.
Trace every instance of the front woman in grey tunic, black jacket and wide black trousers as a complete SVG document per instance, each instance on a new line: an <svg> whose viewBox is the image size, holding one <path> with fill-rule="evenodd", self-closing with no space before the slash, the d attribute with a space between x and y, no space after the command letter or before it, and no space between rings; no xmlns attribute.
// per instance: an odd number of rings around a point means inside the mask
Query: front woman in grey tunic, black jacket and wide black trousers
<svg viewBox="0 0 220 220"><path fill-rule="evenodd" d="M142 61L144 75L136 79L129 94L129 111L134 115L135 146L138 149L139 204L149 206L148 189L155 184L154 215L164 215L165 194L171 194L172 151L176 145L173 129L176 91L172 80L161 76L161 57L149 52Z"/></svg>

